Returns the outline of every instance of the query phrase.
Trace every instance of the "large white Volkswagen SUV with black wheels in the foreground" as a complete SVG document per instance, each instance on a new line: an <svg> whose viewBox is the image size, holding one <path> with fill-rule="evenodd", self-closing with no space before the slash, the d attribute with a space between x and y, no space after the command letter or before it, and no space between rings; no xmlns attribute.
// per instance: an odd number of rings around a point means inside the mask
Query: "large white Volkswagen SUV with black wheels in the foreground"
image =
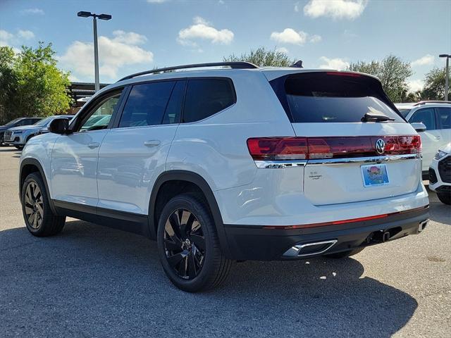
<svg viewBox="0 0 451 338"><path fill-rule="evenodd" d="M85 127L92 115L111 118ZM152 70L50 131L20 158L28 230L56 234L70 216L144 234L190 292L233 261L346 257L428 220L420 137L370 75Z"/></svg>

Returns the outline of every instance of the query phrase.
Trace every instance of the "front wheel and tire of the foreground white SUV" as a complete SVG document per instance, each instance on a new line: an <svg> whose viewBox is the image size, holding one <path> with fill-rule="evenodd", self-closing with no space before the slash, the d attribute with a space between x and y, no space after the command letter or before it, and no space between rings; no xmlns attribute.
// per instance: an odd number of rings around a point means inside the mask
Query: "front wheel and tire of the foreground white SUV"
<svg viewBox="0 0 451 338"><path fill-rule="evenodd" d="M25 225L33 236L53 236L63 230L66 216L51 211L49 196L39 173L31 173L25 178L20 201Z"/></svg>

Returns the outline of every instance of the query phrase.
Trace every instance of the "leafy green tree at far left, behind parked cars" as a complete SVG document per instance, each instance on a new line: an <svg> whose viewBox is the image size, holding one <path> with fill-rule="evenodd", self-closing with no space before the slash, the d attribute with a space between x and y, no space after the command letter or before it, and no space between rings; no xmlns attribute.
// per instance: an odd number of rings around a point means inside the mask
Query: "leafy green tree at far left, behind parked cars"
<svg viewBox="0 0 451 338"><path fill-rule="evenodd" d="M66 92L70 84L68 73L56 67L51 44L39 42L36 48L22 46L18 54L11 51L0 49L1 88L9 88L5 97L0 98L0 104L4 105L1 122L19 116L48 116L66 111L71 101Z"/></svg>

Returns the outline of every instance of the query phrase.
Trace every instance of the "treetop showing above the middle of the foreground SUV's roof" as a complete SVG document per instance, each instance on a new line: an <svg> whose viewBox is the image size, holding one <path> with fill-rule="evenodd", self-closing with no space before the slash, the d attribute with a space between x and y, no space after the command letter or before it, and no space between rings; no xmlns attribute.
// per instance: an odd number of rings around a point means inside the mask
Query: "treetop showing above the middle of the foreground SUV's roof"
<svg viewBox="0 0 451 338"><path fill-rule="evenodd" d="M287 54L282 51L274 49L265 49L265 47L259 47L257 49L251 49L249 53L243 53L240 56L231 54L230 56L223 58L224 62L232 61L247 61L254 63L259 67L272 66L272 67L289 67L294 60L290 60Z"/></svg>

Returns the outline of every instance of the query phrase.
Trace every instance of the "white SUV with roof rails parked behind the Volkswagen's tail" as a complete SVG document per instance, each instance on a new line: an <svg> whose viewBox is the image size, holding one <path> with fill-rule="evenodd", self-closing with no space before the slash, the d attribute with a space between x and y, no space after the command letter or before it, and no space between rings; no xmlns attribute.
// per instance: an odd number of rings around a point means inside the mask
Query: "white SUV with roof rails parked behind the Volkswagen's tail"
<svg viewBox="0 0 451 338"><path fill-rule="evenodd" d="M427 176L437 150L451 142L451 102L420 101L395 106L409 123L423 123L426 126L426 130L419 134L423 146L422 170Z"/></svg>

